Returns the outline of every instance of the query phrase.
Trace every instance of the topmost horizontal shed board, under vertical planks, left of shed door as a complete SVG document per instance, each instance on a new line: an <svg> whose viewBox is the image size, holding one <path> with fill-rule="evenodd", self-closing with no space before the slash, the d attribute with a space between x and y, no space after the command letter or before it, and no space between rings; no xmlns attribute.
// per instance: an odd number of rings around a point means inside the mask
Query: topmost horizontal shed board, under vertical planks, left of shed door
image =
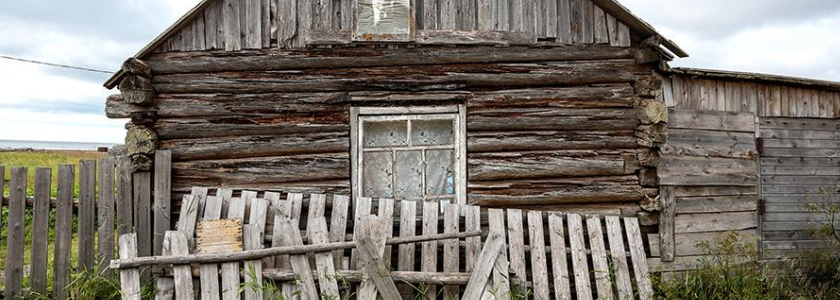
<svg viewBox="0 0 840 300"><path fill-rule="evenodd" d="M669 128L755 132L752 113L671 109Z"/></svg>

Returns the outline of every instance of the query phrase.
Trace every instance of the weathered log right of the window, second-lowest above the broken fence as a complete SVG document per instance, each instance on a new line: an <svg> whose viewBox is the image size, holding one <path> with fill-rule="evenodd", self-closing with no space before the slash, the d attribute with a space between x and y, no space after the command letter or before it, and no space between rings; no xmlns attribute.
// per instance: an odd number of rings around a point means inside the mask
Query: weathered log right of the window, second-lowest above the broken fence
<svg viewBox="0 0 840 300"><path fill-rule="evenodd" d="M622 153L598 150L471 153L467 162L470 180L478 181L632 174Z"/></svg>

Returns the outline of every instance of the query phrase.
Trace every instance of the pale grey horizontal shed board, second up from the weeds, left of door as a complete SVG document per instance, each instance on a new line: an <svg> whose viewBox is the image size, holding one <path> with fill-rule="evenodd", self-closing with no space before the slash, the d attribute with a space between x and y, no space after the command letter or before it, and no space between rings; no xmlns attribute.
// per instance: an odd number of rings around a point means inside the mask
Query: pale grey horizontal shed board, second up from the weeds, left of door
<svg viewBox="0 0 840 300"><path fill-rule="evenodd" d="M730 231L756 228L755 212L678 214L674 222L676 233Z"/></svg>

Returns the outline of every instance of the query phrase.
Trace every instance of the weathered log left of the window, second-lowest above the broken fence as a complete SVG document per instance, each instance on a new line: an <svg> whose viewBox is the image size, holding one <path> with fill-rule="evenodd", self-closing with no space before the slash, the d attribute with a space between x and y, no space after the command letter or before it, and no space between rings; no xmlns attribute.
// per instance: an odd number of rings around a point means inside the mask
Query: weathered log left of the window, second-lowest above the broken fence
<svg viewBox="0 0 840 300"><path fill-rule="evenodd" d="M175 162L173 176L194 177L210 182L303 182L347 179L348 153L306 154Z"/></svg>

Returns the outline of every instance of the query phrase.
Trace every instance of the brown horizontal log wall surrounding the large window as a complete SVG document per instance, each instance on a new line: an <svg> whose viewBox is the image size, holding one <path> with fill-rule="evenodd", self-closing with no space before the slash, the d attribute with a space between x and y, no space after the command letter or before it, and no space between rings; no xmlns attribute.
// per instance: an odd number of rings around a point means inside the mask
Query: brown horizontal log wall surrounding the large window
<svg viewBox="0 0 840 300"><path fill-rule="evenodd" d="M261 50L148 62L152 127L159 148L172 150L178 192L200 185L347 195L351 105L464 102L473 203L577 203L635 215L638 201L657 192L655 182L640 182L643 170L655 175L658 155L634 88L652 67L627 48ZM148 110L108 103L111 117L138 109Z"/></svg>

